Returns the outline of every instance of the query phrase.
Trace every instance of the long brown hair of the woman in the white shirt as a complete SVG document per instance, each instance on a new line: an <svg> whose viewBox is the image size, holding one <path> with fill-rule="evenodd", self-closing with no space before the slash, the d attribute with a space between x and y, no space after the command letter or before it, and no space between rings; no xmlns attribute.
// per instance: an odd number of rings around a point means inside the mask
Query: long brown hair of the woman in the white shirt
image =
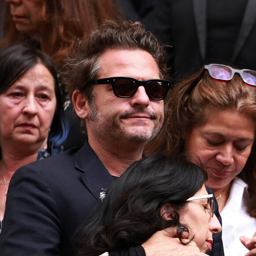
<svg viewBox="0 0 256 256"><path fill-rule="evenodd" d="M234 109L252 119L256 126L256 87L246 86L239 75L229 82L212 79L206 71L178 83L165 104L165 121L158 135L146 145L146 154L158 152L175 157L184 152L184 136L192 128L207 123L209 109ZM196 86L195 86L196 84ZM194 87L195 86L195 87ZM194 87L194 88L193 88ZM248 213L256 218L256 142L246 165L238 175L246 184L250 199Z"/></svg>

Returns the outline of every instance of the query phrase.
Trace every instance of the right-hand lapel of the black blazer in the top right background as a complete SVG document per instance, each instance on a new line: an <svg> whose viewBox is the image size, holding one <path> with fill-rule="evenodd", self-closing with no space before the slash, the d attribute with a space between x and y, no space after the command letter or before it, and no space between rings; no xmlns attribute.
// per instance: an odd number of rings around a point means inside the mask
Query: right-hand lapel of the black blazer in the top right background
<svg viewBox="0 0 256 256"><path fill-rule="evenodd" d="M244 45L246 38L252 30L252 26L256 20L256 0L248 0L244 18L241 23L240 31L237 37L237 41L234 47L232 62L237 58L242 46Z"/></svg>

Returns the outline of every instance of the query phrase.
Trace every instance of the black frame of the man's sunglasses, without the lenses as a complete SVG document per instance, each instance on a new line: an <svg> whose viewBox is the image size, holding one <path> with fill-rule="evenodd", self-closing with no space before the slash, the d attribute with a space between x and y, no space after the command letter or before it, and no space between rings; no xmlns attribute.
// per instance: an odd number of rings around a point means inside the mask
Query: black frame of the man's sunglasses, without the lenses
<svg viewBox="0 0 256 256"><path fill-rule="evenodd" d="M130 96L120 96L117 94L116 92L116 88L115 88L115 83L116 83L116 79L127 79L127 80L132 80L132 81L135 81L136 83L136 90L134 91L134 93ZM151 98L148 94L147 94L147 90L146 90L146 85L147 83L149 82L161 82L161 83L164 83L166 85L166 93L165 95L160 98L160 99L155 99L155 98ZM113 90L113 93L118 97L118 98L131 98L132 96L134 96L138 90L138 88L140 86L143 86L145 91L146 91L146 94L147 94L147 97L151 100L154 100L154 101L162 101L164 98L166 98L167 94L168 94L168 91L169 89L171 88L171 84L172 84L172 81L168 81L168 80L164 80L164 79L149 79L149 80L145 80L145 81L142 81L142 80L137 80L135 78L132 78L132 77L125 77L125 76L115 76L115 77L109 77L109 78L102 78L102 79L94 79L90 82L91 84L111 84L112 86L112 90ZM167 84L166 84L167 83Z"/></svg>

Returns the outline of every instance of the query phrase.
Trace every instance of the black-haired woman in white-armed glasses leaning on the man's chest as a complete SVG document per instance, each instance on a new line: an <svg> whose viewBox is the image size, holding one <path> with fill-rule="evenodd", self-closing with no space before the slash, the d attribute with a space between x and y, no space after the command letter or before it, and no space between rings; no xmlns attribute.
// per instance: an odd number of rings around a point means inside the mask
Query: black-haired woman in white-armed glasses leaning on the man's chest
<svg viewBox="0 0 256 256"><path fill-rule="evenodd" d="M205 255L211 251L212 234L221 231L205 180L200 167L181 158L158 155L132 164L94 209L90 223L81 227L76 255L120 255L128 249L129 255L145 256L139 245L174 228L181 243L194 241L202 252L198 255Z"/></svg>

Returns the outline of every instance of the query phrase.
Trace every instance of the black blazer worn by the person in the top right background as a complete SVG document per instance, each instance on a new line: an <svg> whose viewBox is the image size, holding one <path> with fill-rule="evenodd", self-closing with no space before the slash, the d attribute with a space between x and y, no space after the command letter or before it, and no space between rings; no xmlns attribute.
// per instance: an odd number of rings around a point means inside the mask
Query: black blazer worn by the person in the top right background
<svg viewBox="0 0 256 256"><path fill-rule="evenodd" d="M167 47L173 73L196 71L207 62L206 5L207 0L157 0L154 11L143 19L159 41L173 46ZM233 54L223 62L256 70L255 45L256 1L248 0Z"/></svg>

